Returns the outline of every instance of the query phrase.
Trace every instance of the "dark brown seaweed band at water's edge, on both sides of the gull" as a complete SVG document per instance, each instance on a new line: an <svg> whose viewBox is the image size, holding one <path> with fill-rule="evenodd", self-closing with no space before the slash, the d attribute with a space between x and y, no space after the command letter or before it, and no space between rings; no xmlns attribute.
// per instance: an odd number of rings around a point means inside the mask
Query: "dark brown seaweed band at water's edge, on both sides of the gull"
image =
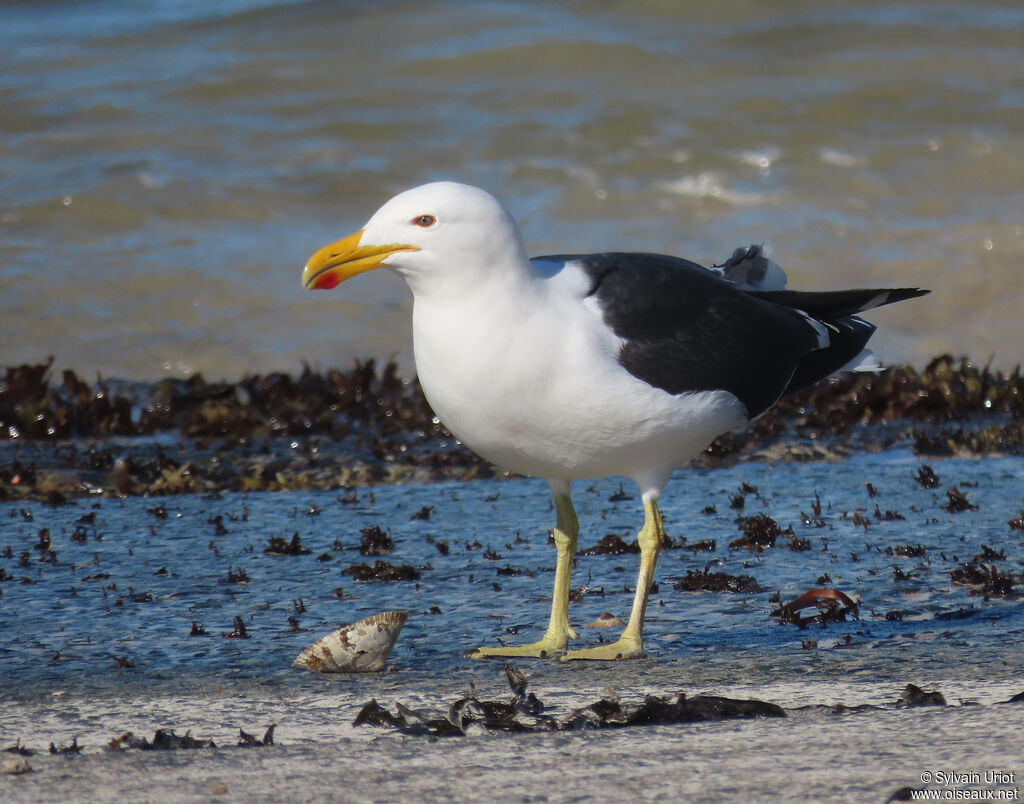
<svg viewBox="0 0 1024 804"><path fill-rule="evenodd" d="M393 363L148 384L90 383L71 370L57 378L52 367L52 358L13 366L0 377L0 445L13 448L0 452L0 500L350 489L495 472L455 441ZM907 441L923 456L1020 455L1022 414L1019 368L1005 374L941 355L920 373L848 375L787 396L749 429L716 439L703 461L766 450L813 460ZM881 427L868 436L864 425Z"/></svg>

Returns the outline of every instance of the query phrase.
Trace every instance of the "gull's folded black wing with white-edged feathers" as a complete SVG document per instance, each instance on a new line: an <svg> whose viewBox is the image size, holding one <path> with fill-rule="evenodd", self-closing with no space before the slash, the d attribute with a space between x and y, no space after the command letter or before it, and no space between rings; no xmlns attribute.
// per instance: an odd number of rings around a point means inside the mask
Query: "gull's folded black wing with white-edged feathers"
<svg viewBox="0 0 1024 804"><path fill-rule="evenodd" d="M850 314L923 291L748 292L694 262L662 254L558 255L591 281L618 362L668 391L729 391L759 416L788 391L850 362L874 327ZM865 296L866 294L866 296ZM810 309L809 309L810 308Z"/></svg>

